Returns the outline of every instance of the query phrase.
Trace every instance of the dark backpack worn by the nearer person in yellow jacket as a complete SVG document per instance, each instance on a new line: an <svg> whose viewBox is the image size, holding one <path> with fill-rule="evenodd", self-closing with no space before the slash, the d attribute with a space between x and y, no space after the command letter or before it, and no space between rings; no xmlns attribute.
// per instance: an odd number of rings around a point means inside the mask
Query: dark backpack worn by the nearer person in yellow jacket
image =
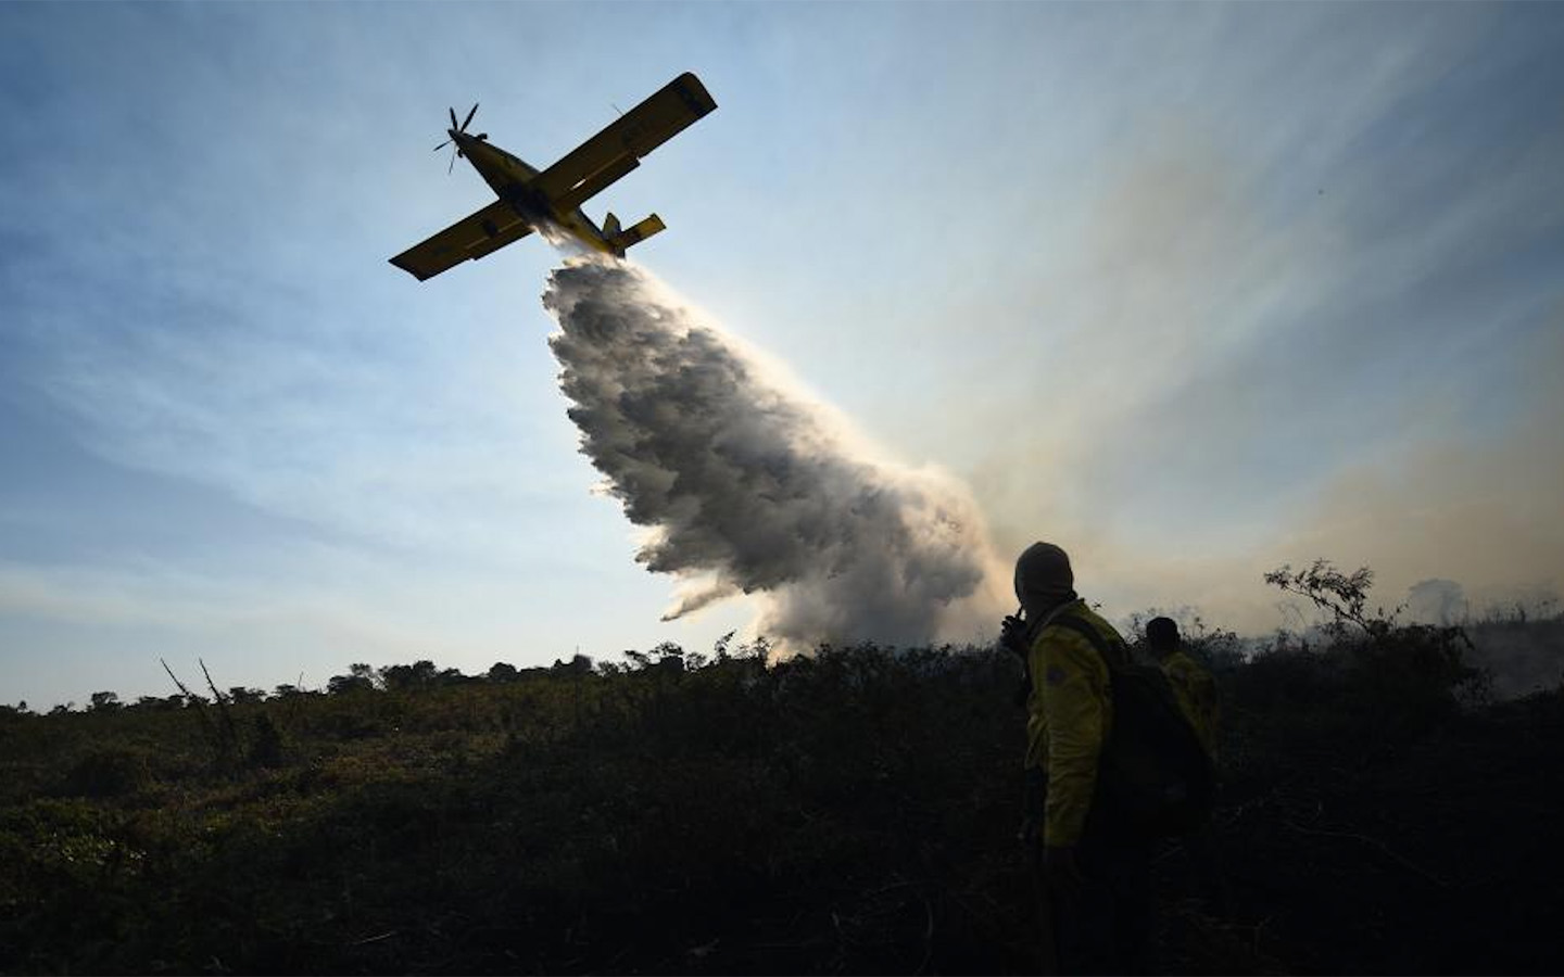
<svg viewBox="0 0 1564 977"><path fill-rule="evenodd" d="M1123 644L1110 644L1081 617L1064 614L1051 624L1090 641L1109 671L1114 724L1098 758L1092 821L1139 841L1201 827L1215 803L1215 769L1167 675L1134 664Z"/></svg>

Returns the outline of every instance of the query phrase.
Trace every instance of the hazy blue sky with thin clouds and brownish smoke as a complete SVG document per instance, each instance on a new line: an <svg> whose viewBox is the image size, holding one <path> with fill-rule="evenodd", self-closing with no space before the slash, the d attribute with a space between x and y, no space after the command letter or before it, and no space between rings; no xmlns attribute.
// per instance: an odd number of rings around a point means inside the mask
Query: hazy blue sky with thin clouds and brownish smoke
<svg viewBox="0 0 1564 977"><path fill-rule="evenodd" d="M386 259L683 70L588 203L1110 617L1564 571L1564 6L0 5L0 702L705 649L579 452L561 256ZM1009 556L1007 556L1009 558Z"/></svg>

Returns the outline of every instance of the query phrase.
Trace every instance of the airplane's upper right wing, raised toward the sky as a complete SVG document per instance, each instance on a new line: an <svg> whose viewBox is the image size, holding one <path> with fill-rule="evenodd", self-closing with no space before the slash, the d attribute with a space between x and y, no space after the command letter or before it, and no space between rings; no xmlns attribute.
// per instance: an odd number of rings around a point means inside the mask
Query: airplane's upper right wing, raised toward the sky
<svg viewBox="0 0 1564 977"><path fill-rule="evenodd" d="M701 80L685 72L538 174L530 186L557 211L572 211L715 108Z"/></svg>

